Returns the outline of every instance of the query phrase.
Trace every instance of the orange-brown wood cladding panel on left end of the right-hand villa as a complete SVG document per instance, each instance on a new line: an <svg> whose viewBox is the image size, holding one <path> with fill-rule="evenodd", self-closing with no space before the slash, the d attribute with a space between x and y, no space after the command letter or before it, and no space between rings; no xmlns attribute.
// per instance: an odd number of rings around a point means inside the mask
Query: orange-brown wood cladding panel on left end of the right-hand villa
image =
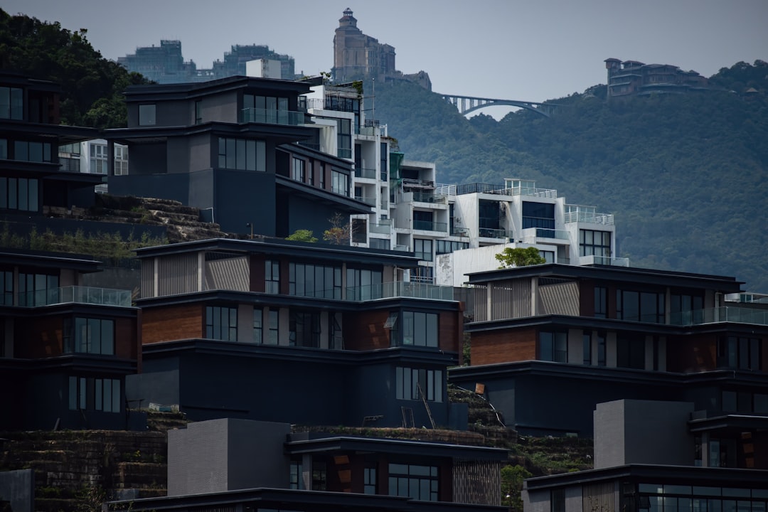
<svg viewBox="0 0 768 512"><path fill-rule="evenodd" d="M536 358L536 329L472 333L472 366Z"/></svg>

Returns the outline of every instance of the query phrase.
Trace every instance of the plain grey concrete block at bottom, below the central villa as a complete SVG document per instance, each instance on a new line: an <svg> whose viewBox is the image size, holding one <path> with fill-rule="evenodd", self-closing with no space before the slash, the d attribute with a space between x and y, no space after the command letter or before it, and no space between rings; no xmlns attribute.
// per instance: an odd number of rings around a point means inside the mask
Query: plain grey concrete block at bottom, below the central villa
<svg viewBox="0 0 768 512"><path fill-rule="evenodd" d="M168 496L288 487L290 424L223 418L168 431Z"/></svg>

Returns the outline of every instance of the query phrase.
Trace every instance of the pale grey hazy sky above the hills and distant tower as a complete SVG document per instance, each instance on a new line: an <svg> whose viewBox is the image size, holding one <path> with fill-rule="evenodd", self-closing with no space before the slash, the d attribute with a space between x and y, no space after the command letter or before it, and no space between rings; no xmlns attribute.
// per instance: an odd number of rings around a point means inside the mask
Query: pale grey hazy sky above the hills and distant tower
<svg viewBox="0 0 768 512"><path fill-rule="evenodd" d="M396 49L404 73L432 89L544 101L605 83L605 58L674 64L710 76L768 60L768 0L2 0L14 15L88 29L101 55L180 39L185 60L210 68L231 45L268 45L296 72L333 66L345 8L363 33Z"/></svg>

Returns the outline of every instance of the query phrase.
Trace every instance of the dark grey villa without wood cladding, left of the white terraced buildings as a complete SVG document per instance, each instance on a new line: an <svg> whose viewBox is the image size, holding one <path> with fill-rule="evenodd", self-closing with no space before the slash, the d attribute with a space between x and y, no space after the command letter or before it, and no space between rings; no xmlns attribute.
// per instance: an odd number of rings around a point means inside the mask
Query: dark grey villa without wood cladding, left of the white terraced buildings
<svg viewBox="0 0 768 512"><path fill-rule="evenodd" d="M309 91L248 77L131 86L128 127L104 134L131 153L127 175L108 171L110 192L178 200L223 231L263 236L323 233L336 213L368 213L349 197L349 161L293 144L316 132Z"/></svg>

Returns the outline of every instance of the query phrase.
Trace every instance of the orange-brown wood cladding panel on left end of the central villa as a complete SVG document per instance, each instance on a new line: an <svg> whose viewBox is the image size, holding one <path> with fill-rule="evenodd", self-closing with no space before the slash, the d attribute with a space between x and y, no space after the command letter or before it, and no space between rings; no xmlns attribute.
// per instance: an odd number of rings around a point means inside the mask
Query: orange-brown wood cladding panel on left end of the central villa
<svg viewBox="0 0 768 512"><path fill-rule="evenodd" d="M203 338L204 306L168 306L144 309L141 341L144 344Z"/></svg>

